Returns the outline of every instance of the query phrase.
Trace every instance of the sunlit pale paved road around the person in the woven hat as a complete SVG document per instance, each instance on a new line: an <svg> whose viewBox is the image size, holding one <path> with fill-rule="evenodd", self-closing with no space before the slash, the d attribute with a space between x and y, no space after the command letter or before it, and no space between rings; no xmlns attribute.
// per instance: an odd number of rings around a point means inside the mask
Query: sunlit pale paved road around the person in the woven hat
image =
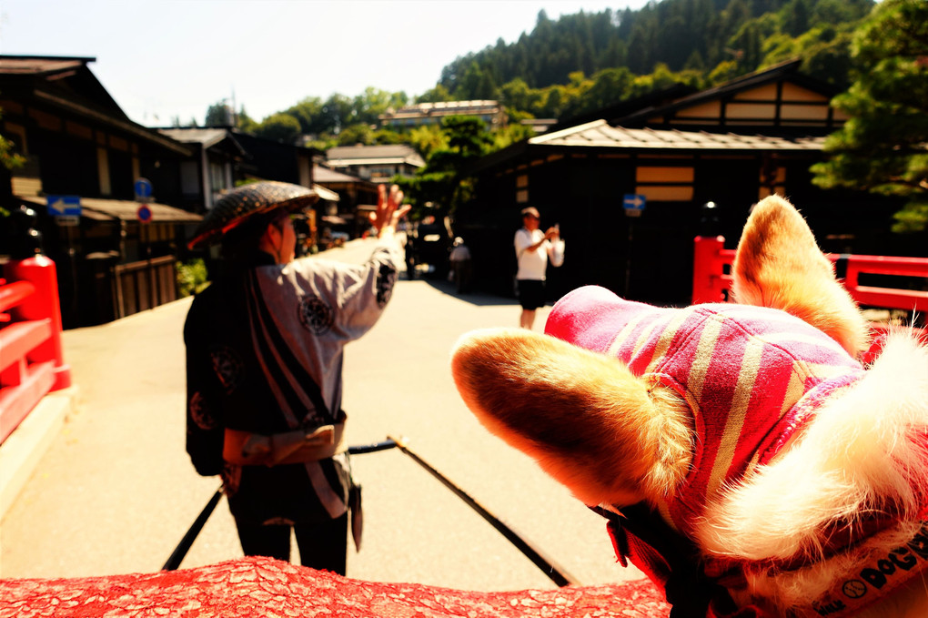
<svg viewBox="0 0 928 618"><path fill-rule="evenodd" d="M354 241L328 256L369 254ZM6 513L0 576L153 572L218 486L184 451L189 300L65 332L79 406ZM349 444L403 435L432 466L541 547L583 584L640 573L615 563L604 522L461 403L449 351L473 328L514 326L511 299L458 297L445 282L403 279L380 323L346 352ZM541 328L542 310L536 328ZM362 551L348 575L475 590L554 585L488 523L397 450L353 458L364 486ZM296 560L294 548L293 560ZM241 556L225 501L183 567Z"/></svg>

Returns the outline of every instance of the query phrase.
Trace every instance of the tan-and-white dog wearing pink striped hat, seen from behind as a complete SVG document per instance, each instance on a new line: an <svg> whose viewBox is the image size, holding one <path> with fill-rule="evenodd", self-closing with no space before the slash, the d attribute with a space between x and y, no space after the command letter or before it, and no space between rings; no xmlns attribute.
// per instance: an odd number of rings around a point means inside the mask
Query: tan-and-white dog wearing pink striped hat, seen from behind
<svg viewBox="0 0 928 618"><path fill-rule="evenodd" d="M587 286L545 334L464 335L483 425L609 518L682 616L928 616L928 347L869 327L787 200L754 206L735 303Z"/></svg>

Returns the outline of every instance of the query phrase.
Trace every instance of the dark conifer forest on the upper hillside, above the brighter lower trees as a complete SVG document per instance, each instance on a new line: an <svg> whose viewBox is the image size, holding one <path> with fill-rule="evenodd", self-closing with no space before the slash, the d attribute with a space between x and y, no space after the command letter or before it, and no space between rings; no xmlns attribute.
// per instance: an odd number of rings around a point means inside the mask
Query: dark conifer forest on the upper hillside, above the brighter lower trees
<svg viewBox="0 0 928 618"><path fill-rule="evenodd" d="M846 56L848 26L867 16L872 0L664 0L638 11L577 13L557 21L538 14L535 30L507 45L457 58L439 82L456 97L521 79L530 88L567 84L625 67L637 75L664 64L670 71L755 71L792 56ZM733 65L730 66L729 65ZM809 67L831 81L844 75ZM846 71L844 71L846 73Z"/></svg>

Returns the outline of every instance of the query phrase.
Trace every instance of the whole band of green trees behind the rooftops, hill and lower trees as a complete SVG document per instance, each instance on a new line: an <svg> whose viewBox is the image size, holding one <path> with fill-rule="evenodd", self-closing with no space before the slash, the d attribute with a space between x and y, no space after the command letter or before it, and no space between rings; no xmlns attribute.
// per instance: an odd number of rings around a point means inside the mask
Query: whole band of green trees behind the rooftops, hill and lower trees
<svg viewBox="0 0 928 618"><path fill-rule="evenodd" d="M873 0L663 0L638 9L580 12L548 19L532 32L456 58L419 97L367 88L354 97L306 97L261 122L236 110L239 128L282 141L310 135L313 146L412 141L434 147L433 132L376 130L388 108L413 102L500 100L514 121L566 119L672 84L703 88L802 58L802 70L844 89L850 83L852 33ZM206 124L230 110L211 106ZM498 135L506 146L524 137L518 124ZM412 139L410 140L410 137Z"/></svg>

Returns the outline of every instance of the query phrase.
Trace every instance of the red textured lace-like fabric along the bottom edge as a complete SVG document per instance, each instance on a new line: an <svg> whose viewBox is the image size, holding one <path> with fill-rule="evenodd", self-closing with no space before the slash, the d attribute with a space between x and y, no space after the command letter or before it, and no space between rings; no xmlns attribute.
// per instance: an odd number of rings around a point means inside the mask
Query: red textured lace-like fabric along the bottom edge
<svg viewBox="0 0 928 618"><path fill-rule="evenodd" d="M663 596L647 580L556 590L471 592L419 584L362 582L280 560L246 558L174 572L0 580L0 618L665 618L670 606Z"/></svg>

